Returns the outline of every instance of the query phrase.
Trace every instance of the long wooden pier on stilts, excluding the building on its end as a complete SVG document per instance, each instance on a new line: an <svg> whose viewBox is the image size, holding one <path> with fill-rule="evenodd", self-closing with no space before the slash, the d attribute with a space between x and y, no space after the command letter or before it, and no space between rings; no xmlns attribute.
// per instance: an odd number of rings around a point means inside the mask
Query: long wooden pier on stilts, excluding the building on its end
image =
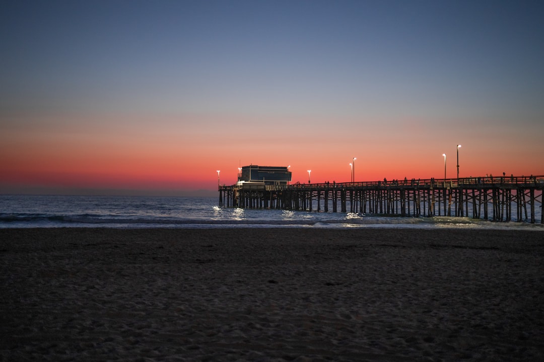
<svg viewBox="0 0 544 362"><path fill-rule="evenodd" d="M544 224L543 189L544 176L223 185L219 186L219 206Z"/></svg>

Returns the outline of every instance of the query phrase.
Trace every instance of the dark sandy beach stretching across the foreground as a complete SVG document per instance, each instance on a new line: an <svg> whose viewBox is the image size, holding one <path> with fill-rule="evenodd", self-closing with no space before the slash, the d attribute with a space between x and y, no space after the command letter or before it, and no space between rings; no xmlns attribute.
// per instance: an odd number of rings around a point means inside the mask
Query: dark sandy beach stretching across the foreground
<svg viewBox="0 0 544 362"><path fill-rule="evenodd" d="M544 360L544 233L0 230L0 360Z"/></svg>

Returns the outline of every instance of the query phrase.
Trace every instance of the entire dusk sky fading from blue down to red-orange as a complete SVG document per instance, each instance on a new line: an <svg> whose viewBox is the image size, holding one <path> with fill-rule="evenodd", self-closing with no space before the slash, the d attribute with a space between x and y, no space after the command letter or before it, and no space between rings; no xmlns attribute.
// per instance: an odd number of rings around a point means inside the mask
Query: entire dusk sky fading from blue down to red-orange
<svg viewBox="0 0 544 362"><path fill-rule="evenodd" d="M544 175L541 1L0 1L0 193ZM457 145L461 144L461 148ZM219 180L217 170L220 170Z"/></svg>

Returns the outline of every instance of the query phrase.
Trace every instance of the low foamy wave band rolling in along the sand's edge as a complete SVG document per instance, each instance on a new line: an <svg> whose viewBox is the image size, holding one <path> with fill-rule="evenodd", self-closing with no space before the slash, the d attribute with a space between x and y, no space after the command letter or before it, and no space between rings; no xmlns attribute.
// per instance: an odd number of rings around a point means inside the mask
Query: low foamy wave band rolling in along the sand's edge
<svg viewBox="0 0 544 362"><path fill-rule="evenodd" d="M100 214L0 214L0 227L410 227L410 228L524 228L544 230L542 224L497 222L467 217L383 217L355 214L297 214L283 217L230 216L207 218L152 217ZM271 215L268 215L271 216Z"/></svg>

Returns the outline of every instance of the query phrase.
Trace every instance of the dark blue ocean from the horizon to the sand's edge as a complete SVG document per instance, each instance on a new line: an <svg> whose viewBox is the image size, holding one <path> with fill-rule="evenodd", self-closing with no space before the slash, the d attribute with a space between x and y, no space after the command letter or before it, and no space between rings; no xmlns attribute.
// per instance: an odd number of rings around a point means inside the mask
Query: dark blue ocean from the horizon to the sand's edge
<svg viewBox="0 0 544 362"><path fill-rule="evenodd" d="M332 207L331 207L332 209ZM470 217L397 217L340 212L241 209L218 206L218 198L159 196L0 195L0 228L232 228L388 227L542 230L536 224ZM472 213L469 211L468 213ZM517 218L516 218L517 220Z"/></svg>

